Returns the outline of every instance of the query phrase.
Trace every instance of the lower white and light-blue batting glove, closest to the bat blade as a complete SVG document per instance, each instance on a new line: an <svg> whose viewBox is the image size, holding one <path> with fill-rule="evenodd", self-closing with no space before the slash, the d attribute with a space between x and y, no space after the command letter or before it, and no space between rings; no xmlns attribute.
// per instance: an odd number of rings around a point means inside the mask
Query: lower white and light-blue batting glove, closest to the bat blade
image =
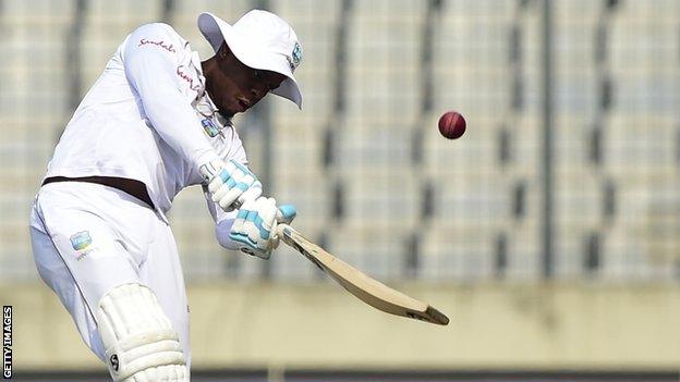
<svg viewBox="0 0 680 382"><path fill-rule="evenodd" d="M292 222L295 214L294 206L277 208L274 198L246 199L231 226L229 238L239 244L242 252L269 259L271 251L279 245L277 224Z"/></svg>

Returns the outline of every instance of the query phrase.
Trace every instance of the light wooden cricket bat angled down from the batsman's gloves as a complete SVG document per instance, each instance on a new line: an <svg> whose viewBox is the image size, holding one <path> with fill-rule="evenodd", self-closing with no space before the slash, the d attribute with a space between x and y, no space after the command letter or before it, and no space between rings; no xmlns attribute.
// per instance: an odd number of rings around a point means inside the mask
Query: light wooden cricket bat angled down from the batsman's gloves
<svg viewBox="0 0 680 382"><path fill-rule="evenodd" d="M292 226L279 223L277 233L283 243L304 255L349 293L372 307L429 323L440 325L449 323L449 318L439 310L372 279L309 242Z"/></svg>

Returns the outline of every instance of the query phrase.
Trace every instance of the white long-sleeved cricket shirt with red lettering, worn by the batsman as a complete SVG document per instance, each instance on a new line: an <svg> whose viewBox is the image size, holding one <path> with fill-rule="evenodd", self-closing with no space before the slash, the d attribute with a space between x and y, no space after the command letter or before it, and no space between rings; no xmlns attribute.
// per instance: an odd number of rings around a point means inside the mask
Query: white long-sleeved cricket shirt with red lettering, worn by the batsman
<svg viewBox="0 0 680 382"><path fill-rule="evenodd" d="M218 157L246 163L239 135L216 111L198 53L171 26L143 25L76 109L46 177L137 180L165 215L182 188L202 182L201 164Z"/></svg>

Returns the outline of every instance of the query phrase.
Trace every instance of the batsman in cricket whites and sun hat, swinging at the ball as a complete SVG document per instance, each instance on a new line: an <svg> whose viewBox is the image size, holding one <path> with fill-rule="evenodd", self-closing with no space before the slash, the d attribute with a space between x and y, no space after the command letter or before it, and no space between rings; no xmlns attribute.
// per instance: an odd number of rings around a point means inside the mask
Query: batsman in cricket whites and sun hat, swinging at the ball
<svg viewBox="0 0 680 382"><path fill-rule="evenodd" d="M31 213L38 272L113 381L190 380L189 308L166 213L203 185L219 244L268 259L292 206L262 195L231 119L267 94L302 106L290 25L203 13L201 61L167 24L130 34L66 125Z"/></svg>

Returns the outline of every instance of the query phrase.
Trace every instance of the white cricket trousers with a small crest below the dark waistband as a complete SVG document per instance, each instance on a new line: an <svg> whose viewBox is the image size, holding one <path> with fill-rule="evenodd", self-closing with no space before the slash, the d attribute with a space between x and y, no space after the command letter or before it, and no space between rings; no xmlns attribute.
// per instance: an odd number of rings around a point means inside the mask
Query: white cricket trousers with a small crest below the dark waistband
<svg viewBox="0 0 680 382"><path fill-rule="evenodd" d="M178 332L189 370L189 307L174 237L146 204L92 183L40 188L31 212L31 243L40 276L61 299L101 360L94 312L112 287L148 286Z"/></svg>

